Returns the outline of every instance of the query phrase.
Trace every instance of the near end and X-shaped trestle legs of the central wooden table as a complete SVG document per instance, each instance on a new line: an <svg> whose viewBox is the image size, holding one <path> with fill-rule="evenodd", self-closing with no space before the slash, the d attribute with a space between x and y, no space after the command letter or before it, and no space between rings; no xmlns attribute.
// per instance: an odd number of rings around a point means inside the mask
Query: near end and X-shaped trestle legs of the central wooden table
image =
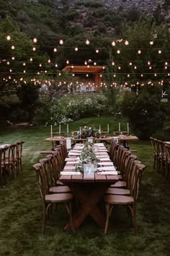
<svg viewBox="0 0 170 256"><path fill-rule="evenodd" d="M111 166L112 162L110 163ZM67 165L66 163L66 166L69 166L69 164ZM79 175L76 175L76 173L69 175L68 173L68 175L61 174L59 180L71 189L76 200L80 203L79 209L73 215L74 228L79 228L87 216L91 216L98 226L104 228L105 214L102 212L98 203L102 200L110 184L115 184L118 181L118 176L107 174L107 172L102 175L94 172L94 177L86 178L84 173L79 173ZM71 230L71 224L68 223L64 229L66 231Z"/></svg>

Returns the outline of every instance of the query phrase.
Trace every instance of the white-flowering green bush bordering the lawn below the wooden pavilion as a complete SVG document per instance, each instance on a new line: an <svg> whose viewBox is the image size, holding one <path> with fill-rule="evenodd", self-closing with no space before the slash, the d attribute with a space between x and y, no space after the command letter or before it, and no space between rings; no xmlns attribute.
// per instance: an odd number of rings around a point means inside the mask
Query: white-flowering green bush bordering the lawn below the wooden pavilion
<svg viewBox="0 0 170 256"><path fill-rule="evenodd" d="M35 113L34 124L48 126L53 124L66 124L87 116L100 116L107 109L107 100L104 95L95 98L72 100L69 103L62 101L50 101L38 106Z"/></svg>

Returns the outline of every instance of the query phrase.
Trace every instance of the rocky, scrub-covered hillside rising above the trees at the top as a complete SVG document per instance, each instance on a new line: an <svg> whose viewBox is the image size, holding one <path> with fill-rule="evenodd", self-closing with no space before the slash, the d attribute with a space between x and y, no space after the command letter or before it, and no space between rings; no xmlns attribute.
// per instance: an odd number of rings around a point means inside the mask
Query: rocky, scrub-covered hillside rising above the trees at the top
<svg viewBox="0 0 170 256"><path fill-rule="evenodd" d="M141 15L168 21L169 4L169 0L0 0L0 21L12 17L30 36L88 33L116 37L124 22L135 22Z"/></svg>

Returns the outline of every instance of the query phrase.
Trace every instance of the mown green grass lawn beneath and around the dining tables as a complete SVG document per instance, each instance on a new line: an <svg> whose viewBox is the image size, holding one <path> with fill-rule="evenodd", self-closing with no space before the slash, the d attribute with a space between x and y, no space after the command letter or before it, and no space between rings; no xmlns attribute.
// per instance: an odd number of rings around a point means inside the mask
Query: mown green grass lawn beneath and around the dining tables
<svg viewBox="0 0 170 256"><path fill-rule="evenodd" d="M84 125L102 126L117 130L112 116L81 119L69 124L69 130ZM121 120L122 130L127 122ZM56 128L57 131L58 127ZM61 130L66 130L66 126ZM53 130L55 132L55 129ZM170 255L170 185L153 171L153 153L149 141L130 143L138 150L138 159L146 164L138 195L138 236L135 236L124 208L115 208L115 223L107 236L88 218L76 234L63 231L68 222L65 208L50 218L45 234L41 234L42 205L37 177L32 165L42 157L40 150L50 149L50 127L8 128L0 131L0 144L26 140L24 143L23 173L9 181L0 194L0 255Z"/></svg>

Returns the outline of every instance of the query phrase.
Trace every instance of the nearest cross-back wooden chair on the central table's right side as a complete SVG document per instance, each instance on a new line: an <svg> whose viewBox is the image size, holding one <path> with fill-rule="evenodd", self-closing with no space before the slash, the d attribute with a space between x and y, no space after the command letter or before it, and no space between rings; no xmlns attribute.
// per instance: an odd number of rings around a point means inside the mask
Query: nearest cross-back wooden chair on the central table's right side
<svg viewBox="0 0 170 256"><path fill-rule="evenodd" d="M111 215L112 209L114 208L115 205L126 205L128 207L132 216L135 234L138 234L137 222L136 222L136 203L138 198L140 173L144 171L145 167L146 166L144 166L143 164L135 164L133 166L133 174L131 177L132 182L130 184L130 196L127 196L127 195L105 195L104 196L104 202L105 202L106 214L107 214L104 234L107 234L107 229L109 225L109 216Z"/></svg>

